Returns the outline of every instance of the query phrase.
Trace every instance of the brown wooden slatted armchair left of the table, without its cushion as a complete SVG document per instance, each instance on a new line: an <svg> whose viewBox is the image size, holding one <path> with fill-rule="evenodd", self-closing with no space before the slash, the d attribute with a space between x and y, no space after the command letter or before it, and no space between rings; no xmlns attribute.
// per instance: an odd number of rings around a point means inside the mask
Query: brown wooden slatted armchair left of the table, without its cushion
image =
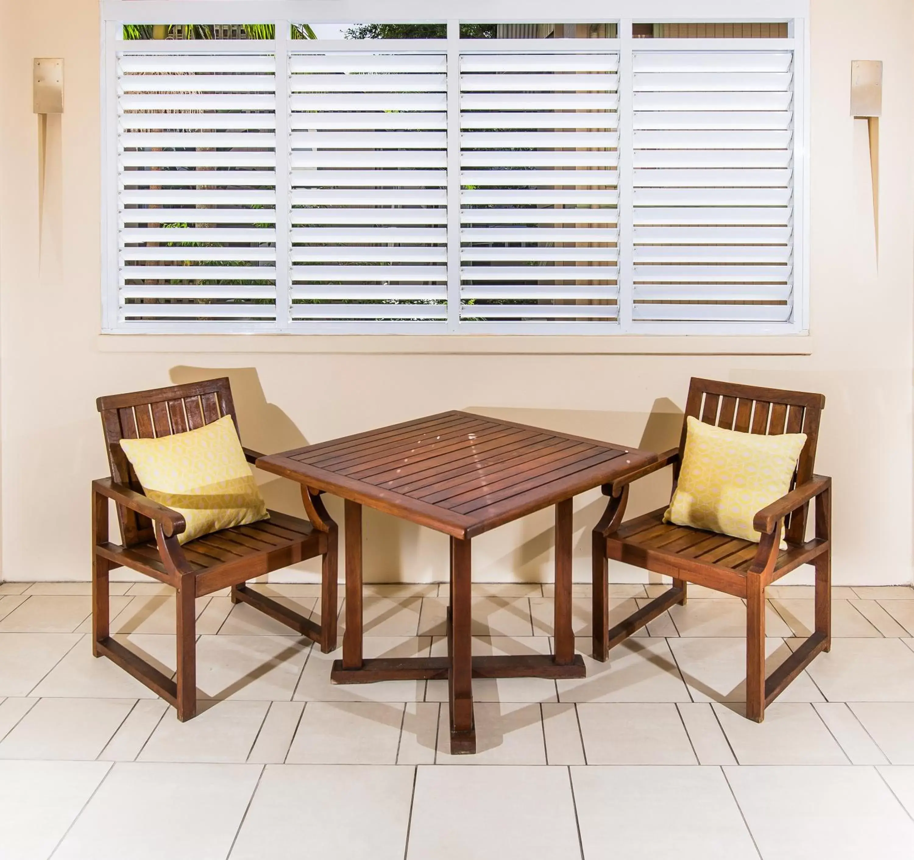
<svg viewBox="0 0 914 860"><path fill-rule="evenodd" d="M188 541L184 517L143 495L136 473L121 449L122 439L149 439L197 430L230 415L238 430L228 378L173 388L99 398L111 477L92 482L92 653L118 664L165 701L180 720L197 713L195 599L231 587L233 603L243 601L320 643L324 653L336 647L335 522L318 494L303 487L311 522L270 511L270 519L226 528ZM262 456L244 449L248 462ZM117 505L122 546L108 539L108 500ZM316 624L275 600L252 591L247 580L306 558L323 557L321 623ZM109 573L131 568L176 591L177 673L175 680L143 661L110 636Z"/></svg>

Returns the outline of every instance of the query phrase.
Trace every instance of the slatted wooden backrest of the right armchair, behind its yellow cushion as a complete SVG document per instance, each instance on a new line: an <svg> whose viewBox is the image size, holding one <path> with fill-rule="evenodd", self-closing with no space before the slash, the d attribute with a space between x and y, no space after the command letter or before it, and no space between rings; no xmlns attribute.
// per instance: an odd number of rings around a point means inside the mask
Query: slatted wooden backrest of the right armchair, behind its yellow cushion
<svg viewBox="0 0 914 860"><path fill-rule="evenodd" d="M819 441L819 421L825 406L821 394L759 388L732 382L693 378L685 401L685 415L680 436L680 451L685 451L686 421L696 418L725 430L757 435L805 433L806 443L800 452L791 488L806 483L813 476L815 449ZM674 470L674 487L679 478ZM801 543L806 531L807 506L789 517L785 537Z"/></svg>

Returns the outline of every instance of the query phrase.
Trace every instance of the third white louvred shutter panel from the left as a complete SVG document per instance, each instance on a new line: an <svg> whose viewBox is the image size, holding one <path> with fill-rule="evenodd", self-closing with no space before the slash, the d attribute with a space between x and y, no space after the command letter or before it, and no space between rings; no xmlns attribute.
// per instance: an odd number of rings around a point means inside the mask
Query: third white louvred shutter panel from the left
<svg viewBox="0 0 914 860"><path fill-rule="evenodd" d="M616 318L618 64L460 58L462 320Z"/></svg>

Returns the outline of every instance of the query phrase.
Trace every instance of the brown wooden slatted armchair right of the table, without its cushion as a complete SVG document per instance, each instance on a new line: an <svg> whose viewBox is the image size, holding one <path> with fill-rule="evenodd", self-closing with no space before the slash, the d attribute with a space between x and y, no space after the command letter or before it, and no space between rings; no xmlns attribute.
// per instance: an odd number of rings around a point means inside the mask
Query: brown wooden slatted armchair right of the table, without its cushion
<svg viewBox="0 0 914 860"><path fill-rule="evenodd" d="M830 478L813 474L821 394L755 388L692 379L679 447L658 461L603 487L610 496L593 530L593 656L604 661L613 645L676 603L685 603L687 582L745 598L746 716L761 722L765 706L802 672L820 651L831 648L831 487ZM685 419L743 433L806 434L791 491L755 515L758 544L696 528L664 523L666 506L622 523L629 484L665 466L673 467L674 489L685 450ZM806 514L815 500L815 536L805 539ZM781 532L787 544L781 549ZM608 559L666 574L673 586L627 619L609 627ZM765 677L765 588L802 564L815 568L815 632L781 666Z"/></svg>

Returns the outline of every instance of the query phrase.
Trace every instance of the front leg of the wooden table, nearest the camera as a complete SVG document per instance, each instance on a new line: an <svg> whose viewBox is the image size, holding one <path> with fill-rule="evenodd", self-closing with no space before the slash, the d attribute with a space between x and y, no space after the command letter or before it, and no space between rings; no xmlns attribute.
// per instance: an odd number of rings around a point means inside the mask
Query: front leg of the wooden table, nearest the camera
<svg viewBox="0 0 914 860"><path fill-rule="evenodd" d="M476 751L473 722L473 638L471 624L470 541L451 538L451 611L448 624L448 702L451 708L451 752Z"/></svg>

